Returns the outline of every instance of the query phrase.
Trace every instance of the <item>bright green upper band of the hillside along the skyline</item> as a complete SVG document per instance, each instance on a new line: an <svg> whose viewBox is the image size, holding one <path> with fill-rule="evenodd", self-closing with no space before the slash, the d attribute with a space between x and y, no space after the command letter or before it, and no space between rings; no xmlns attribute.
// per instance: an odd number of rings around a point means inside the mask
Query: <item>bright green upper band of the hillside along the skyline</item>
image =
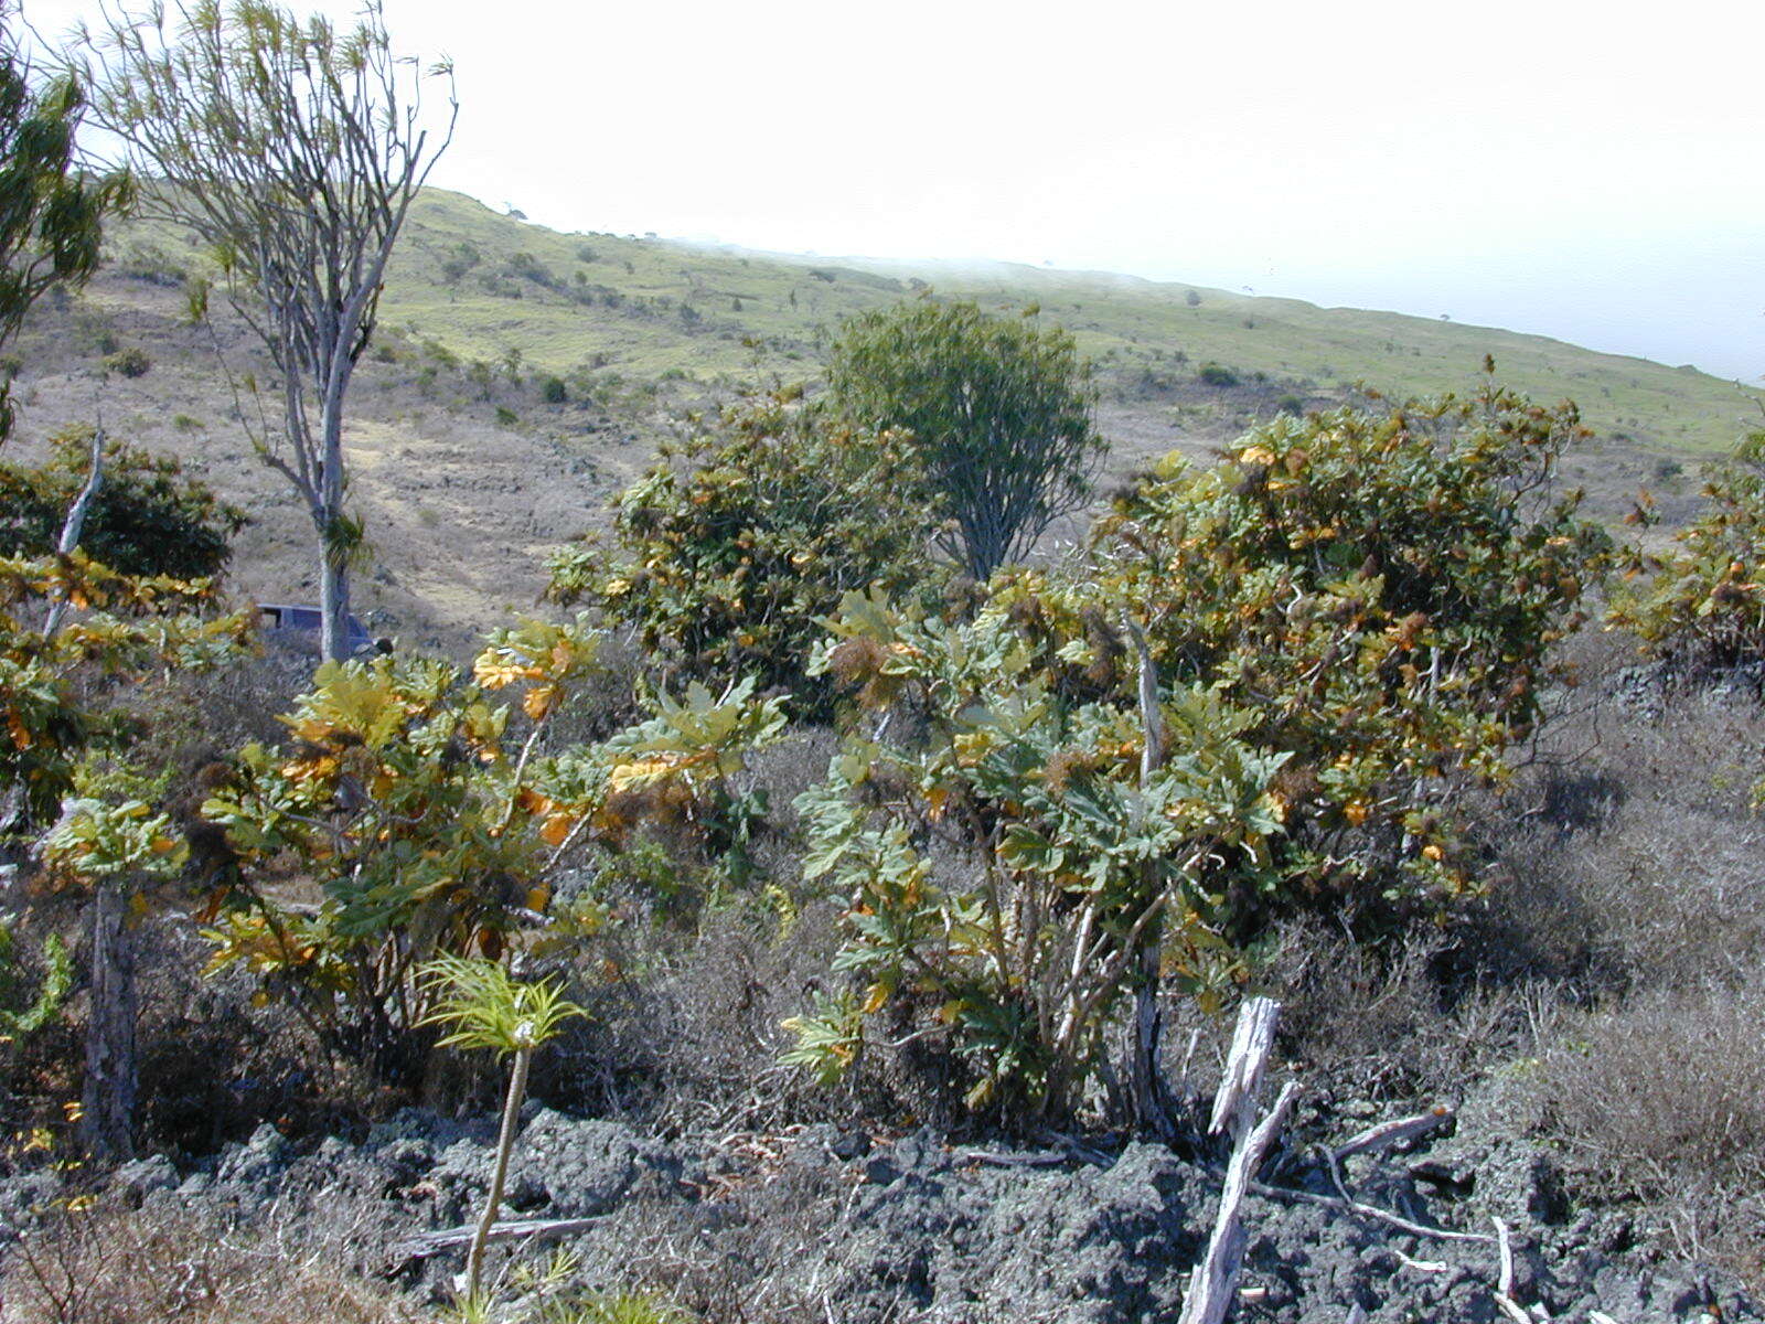
<svg viewBox="0 0 1765 1324"><path fill-rule="evenodd" d="M1394 312L1320 309L1098 272L1020 265L787 258L612 235L560 235L469 198L429 192L388 281L388 321L464 358L508 350L554 372L588 365L653 378L715 378L754 358L810 360L821 330L923 282L992 307L1040 304L1098 360L1117 399L1184 395L1204 362L1264 372L1292 394L1354 381L1396 394L1447 388L1495 355L1502 378L1541 399L1571 397L1603 434L1656 454L1733 443L1753 404L1733 383L1541 335ZM469 245L469 247L468 247ZM1190 291L1200 302L1191 304ZM1177 358L1183 355L1183 358ZM1205 402L1205 397L1202 399ZM1193 411L1200 422L1207 411Z"/></svg>

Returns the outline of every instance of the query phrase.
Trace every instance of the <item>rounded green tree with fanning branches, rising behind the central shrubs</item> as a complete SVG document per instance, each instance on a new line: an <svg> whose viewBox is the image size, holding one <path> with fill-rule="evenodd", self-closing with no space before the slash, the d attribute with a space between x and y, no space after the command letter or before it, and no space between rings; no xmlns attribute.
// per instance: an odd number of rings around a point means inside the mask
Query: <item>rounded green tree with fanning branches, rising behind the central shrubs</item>
<svg viewBox="0 0 1765 1324"><path fill-rule="evenodd" d="M847 320L833 346L838 406L861 427L913 433L953 521L943 547L974 579L1084 505L1108 448L1091 365L1033 312L921 298Z"/></svg>

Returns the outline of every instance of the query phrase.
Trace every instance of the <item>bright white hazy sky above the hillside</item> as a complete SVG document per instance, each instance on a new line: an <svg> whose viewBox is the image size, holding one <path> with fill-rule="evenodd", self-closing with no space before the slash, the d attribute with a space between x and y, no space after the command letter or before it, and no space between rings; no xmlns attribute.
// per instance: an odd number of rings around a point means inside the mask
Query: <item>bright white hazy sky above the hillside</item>
<svg viewBox="0 0 1765 1324"><path fill-rule="evenodd" d="M25 0L46 32L94 9ZM1756 2L385 0L385 18L455 65L431 182L558 229L1115 270L1765 374Z"/></svg>

